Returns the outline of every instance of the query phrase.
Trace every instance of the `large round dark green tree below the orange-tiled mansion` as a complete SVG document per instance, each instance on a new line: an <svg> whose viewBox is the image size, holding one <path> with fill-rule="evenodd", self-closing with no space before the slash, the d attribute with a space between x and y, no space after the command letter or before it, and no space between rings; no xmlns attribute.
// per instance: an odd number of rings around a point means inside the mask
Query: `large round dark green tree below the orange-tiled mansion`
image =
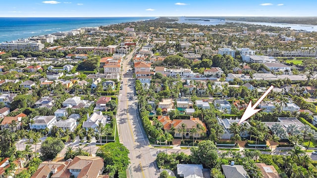
<svg viewBox="0 0 317 178"><path fill-rule="evenodd" d="M198 143L198 147L191 147L190 159L195 164L203 164L207 168L213 168L218 162L216 146L211 140Z"/></svg>

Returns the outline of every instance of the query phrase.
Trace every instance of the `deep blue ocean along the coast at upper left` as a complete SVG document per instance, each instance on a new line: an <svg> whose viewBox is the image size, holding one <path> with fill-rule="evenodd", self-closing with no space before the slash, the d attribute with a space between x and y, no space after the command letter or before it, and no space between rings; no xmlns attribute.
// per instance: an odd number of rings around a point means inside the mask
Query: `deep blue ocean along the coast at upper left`
<svg viewBox="0 0 317 178"><path fill-rule="evenodd" d="M28 37L156 17L0 17L0 43Z"/></svg>

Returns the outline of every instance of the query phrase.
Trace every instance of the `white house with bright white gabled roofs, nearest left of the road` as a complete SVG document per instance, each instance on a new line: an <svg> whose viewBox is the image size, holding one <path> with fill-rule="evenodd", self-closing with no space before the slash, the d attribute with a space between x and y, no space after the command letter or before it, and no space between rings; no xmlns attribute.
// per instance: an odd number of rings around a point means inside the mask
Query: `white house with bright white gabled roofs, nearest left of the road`
<svg viewBox="0 0 317 178"><path fill-rule="evenodd" d="M98 131L99 124L106 125L108 116L104 116L102 111L95 111L88 119L83 123L83 128L88 131L89 128L93 128Z"/></svg>

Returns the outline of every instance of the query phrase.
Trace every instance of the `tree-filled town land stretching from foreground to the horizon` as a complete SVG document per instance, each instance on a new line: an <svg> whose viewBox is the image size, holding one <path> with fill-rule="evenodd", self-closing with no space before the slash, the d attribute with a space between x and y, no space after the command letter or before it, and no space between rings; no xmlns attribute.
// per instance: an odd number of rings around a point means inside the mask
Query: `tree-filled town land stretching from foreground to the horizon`
<svg viewBox="0 0 317 178"><path fill-rule="evenodd" d="M276 177L317 177L317 33L174 22L1 44L4 173L167 178L199 164L188 174L224 178L234 164L262 178L266 164ZM238 125L271 85L262 110ZM97 157L98 175L74 164Z"/></svg>

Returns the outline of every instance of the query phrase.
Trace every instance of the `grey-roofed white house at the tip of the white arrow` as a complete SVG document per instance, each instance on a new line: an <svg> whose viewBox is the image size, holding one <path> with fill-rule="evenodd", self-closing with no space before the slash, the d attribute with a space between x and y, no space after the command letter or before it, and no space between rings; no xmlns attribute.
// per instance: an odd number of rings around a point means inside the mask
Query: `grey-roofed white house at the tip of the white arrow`
<svg viewBox="0 0 317 178"><path fill-rule="evenodd" d="M230 131L230 126L233 124L233 123L239 123L240 119L238 117L236 117L236 119L221 119L221 118L218 118L217 117L217 122L219 125L223 126L224 128L224 133L221 135L221 139L230 139L234 134L231 133ZM250 124L245 121L247 123L248 126L250 126ZM250 126L251 127L251 126ZM240 136L245 138L245 137L248 137L249 136L249 133L248 131L241 131L240 132Z"/></svg>

